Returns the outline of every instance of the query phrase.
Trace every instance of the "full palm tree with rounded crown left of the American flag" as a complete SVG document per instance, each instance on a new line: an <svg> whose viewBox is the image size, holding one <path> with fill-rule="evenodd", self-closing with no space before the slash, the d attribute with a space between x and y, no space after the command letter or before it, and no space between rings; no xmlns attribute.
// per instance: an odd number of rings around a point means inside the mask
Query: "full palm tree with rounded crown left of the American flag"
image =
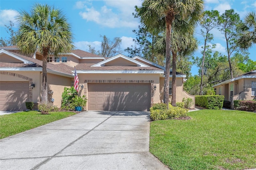
<svg viewBox="0 0 256 170"><path fill-rule="evenodd" d="M71 27L65 16L54 7L34 4L29 14L18 12L17 46L24 54L38 51L42 54L42 102L47 102L47 58L48 55L69 53L74 49Z"/></svg>

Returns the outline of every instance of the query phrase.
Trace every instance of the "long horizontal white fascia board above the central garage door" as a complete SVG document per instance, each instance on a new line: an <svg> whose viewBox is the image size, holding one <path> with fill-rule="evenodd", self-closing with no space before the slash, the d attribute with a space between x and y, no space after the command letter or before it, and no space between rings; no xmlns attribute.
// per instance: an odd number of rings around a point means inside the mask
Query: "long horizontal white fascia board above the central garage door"
<svg viewBox="0 0 256 170"><path fill-rule="evenodd" d="M74 72L74 71L73 71ZM160 70L108 70L108 71L102 71L102 70L76 70L76 73L100 73L100 74L109 74L109 73L114 73L114 74L163 74L164 71Z"/></svg>

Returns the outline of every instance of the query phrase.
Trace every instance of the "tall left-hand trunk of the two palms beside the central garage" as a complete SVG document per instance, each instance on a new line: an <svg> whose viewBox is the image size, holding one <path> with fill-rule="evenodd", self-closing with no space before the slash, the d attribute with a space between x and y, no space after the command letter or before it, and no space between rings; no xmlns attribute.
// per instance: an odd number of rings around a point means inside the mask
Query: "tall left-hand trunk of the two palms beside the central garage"
<svg viewBox="0 0 256 170"><path fill-rule="evenodd" d="M165 78L164 78L164 103L167 104L169 109L169 80L170 80L170 62L171 62L171 30L172 30L172 16L166 15L166 62L165 62Z"/></svg>

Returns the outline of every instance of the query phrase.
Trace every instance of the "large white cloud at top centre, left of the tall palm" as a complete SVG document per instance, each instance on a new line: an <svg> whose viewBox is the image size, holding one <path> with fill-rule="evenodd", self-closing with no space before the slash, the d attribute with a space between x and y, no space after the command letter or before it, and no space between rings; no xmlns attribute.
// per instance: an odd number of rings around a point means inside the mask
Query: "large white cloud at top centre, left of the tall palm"
<svg viewBox="0 0 256 170"><path fill-rule="evenodd" d="M135 28L139 25L138 19L132 16L134 6L140 5L138 0L107 0L105 5L99 10L94 7L87 7L83 2L77 3L78 6L83 7L84 11L79 12L80 16L86 21L93 21L98 25L105 27L130 27Z"/></svg>

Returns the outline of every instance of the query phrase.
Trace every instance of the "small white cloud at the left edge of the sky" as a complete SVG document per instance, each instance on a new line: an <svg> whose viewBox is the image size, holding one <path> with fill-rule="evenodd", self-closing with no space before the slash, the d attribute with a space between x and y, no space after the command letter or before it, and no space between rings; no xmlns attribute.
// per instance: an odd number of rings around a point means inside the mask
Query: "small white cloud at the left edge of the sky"
<svg viewBox="0 0 256 170"><path fill-rule="evenodd" d="M14 27L17 26L15 16L18 14L15 10L0 10L0 26L9 25L9 21L14 23Z"/></svg>

